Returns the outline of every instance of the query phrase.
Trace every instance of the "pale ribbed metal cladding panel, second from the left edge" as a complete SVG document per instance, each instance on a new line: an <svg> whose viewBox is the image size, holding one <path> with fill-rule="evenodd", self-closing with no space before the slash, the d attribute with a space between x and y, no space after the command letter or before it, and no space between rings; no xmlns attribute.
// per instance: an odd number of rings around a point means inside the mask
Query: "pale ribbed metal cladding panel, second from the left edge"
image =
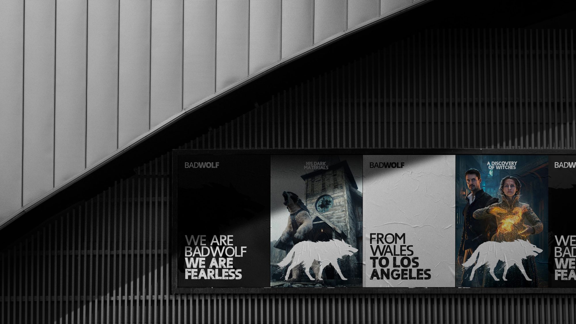
<svg viewBox="0 0 576 324"><path fill-rule="evenodd" d="M55 5L29 0L24 11L24 205L54 187Z"/></svg>

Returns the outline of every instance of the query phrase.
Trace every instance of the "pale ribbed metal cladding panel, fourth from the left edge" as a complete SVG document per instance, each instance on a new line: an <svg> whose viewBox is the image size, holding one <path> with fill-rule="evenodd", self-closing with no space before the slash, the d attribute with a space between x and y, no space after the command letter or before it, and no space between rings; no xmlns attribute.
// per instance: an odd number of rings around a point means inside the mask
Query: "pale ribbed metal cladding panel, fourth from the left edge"
<svg viewBox="0 0 576 324"><path fill-rule="evenodd" d="M86 167L118 147L118 5L88 2Z"/></svg>

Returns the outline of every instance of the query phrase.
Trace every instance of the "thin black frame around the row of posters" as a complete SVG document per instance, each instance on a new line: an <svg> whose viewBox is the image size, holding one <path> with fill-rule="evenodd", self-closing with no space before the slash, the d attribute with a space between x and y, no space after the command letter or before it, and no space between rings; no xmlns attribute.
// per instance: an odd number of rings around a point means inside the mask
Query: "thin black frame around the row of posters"
<svg viewBox="0 0 576 324"><path fill-rule="evenodd" d="M177 158L179 155L576 155L576 150L561 149L174 149L172 150L172 228L177 222ZM323 287L323 288L284 288L284 287L177 287L175 269L177 267L176 235L171 235L170 254L170 293L250 293L250 294L573 294L576 288L397 288L397 287Z"/></svg>

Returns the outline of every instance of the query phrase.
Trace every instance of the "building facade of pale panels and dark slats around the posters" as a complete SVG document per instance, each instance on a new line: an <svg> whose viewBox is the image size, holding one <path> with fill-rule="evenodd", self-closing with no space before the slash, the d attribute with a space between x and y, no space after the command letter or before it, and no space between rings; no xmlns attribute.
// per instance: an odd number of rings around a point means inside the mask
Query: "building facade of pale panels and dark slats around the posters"
<svg viewBox="0 0 576 324"><path fill-rule="evenodd" d="M575 153L573 17L540 2L3 1L0 322L573 322L569 288L169 284L172 149Z"/></svg>

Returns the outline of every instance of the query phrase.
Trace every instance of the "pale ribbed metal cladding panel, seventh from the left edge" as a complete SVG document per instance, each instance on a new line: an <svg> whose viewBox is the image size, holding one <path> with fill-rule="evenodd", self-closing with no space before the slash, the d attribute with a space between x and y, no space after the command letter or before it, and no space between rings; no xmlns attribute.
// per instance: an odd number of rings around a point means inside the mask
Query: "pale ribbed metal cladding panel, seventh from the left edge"
<svg viewBox="0 0 576 324"><path fill-rule="evenodd" d="M184 1L184 108L216 89L216 0Z"/></svg>

